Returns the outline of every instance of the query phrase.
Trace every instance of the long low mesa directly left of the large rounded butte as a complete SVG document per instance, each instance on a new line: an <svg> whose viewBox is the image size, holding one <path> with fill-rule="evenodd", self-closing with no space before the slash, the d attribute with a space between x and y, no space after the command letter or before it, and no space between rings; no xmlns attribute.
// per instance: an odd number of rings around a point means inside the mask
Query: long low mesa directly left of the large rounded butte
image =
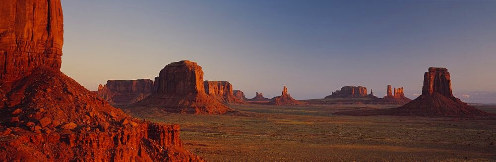
<svg viewBox="0 0 496 162"><path fill-rule="evenodd" d="M150 79L108 80L105 86L99 85L96 94L112 106L125 106L143 100L154 90Z"/></svg>

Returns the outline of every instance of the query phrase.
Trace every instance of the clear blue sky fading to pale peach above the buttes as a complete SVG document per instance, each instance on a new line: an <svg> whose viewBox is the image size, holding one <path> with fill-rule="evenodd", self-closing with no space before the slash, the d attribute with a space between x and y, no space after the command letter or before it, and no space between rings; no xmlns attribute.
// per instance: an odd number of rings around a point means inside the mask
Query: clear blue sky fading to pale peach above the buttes
<svg viewBox="0 0 496 162"><path fill-rule="evenodd" d="M343 86L420 94L429 66L457 95L496 92L496 1L63 0L62 71L90 90L189 59L253 97Z"/></svg>

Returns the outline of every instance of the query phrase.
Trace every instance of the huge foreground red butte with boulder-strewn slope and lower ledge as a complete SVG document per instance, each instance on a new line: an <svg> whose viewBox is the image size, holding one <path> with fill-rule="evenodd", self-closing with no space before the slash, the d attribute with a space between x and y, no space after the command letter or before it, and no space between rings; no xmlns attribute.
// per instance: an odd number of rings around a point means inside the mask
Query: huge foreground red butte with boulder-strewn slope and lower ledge
<svg viewBox="0 0 496 162"><path fill-rule="evenodd" d="M60 72L60 0L0 2L0 161L201 161Z"/></svg>

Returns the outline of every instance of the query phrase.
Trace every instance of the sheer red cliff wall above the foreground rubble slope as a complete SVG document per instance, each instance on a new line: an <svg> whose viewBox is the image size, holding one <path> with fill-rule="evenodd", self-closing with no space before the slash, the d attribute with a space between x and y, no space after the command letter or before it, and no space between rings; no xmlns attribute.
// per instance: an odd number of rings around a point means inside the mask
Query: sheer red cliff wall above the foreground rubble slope
<svg viewBox="0 0 496 162"><path fill-rule="evenodd" d="M63 16L60 0L2 0L0 80L4 85L37 67L59 71Z"/></svg>

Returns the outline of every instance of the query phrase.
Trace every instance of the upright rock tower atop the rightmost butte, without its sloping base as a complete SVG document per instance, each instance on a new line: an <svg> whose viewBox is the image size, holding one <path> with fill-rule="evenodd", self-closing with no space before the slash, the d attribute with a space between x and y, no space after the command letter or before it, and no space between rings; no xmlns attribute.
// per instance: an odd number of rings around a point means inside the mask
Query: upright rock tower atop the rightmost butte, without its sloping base
<svg viewBox="0 0 496 162"><path fill-rule="evenodd" d="M450 74L446 68L429 67L429 71L424 74L422 95L432 96L435 93L449 98L453 97Z"/></svg>

